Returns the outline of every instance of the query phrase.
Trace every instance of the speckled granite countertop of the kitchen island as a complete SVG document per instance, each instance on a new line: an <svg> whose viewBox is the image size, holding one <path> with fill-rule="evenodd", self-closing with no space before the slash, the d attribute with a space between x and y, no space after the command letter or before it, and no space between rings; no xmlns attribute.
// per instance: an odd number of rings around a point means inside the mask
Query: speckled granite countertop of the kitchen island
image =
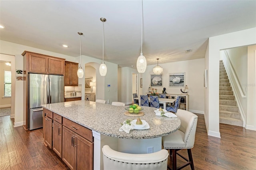
<svg viewBox="0 0 256 170"><path fill-rule="evenodd" d="M121 123L126 119L133 120L138 117L126 116L124 114L124 112L126 112L124 108L127 106L112 106L110 104L78 100L44 104L42 107L90 130L116 138L158 138L173 133L180 128L179 118L156 116L154 112L156 108L146 106L142 106L142 108L144 108L144 110L142 110L144 116L140 116L140 119L146 120L150 128L144 130L130 130L129 134L124 131L119 132L119 128L122 126Z"/></svg>

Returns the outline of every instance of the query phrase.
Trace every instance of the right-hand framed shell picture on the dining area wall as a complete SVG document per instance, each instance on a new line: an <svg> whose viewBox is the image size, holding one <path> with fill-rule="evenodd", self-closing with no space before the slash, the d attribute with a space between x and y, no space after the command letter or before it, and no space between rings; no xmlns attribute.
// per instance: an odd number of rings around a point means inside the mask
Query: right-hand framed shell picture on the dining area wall
<svg viewBox="0 0 256 170"><path fill-rule="evenodd" d="M169 87L185 87L185 72L170 73Z"/></svg>

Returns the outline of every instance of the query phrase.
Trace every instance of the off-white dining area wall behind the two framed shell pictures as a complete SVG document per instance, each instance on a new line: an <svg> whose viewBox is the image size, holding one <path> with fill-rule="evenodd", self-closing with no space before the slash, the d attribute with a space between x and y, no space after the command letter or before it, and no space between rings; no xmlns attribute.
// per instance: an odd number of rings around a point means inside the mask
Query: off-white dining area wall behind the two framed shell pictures
<svg viewBox="0 0 256 170"><path fill-rule="evenodd" d="M168 94L184 94L180 87L169 87L169 74L177 72L185 72L185 85L188 91L188 110L194 113L204 113L204 58L196 60L187 60L181 62L171 62L159 64L163 68L163 87L156 88L162 93L163 88L166 88ZM142 93L148 92L150 85L150 74L153 73L153 68L156 65L147 66L146 72L142 74L143 88ZM154 87L155 88L155 87Z"/></svg>

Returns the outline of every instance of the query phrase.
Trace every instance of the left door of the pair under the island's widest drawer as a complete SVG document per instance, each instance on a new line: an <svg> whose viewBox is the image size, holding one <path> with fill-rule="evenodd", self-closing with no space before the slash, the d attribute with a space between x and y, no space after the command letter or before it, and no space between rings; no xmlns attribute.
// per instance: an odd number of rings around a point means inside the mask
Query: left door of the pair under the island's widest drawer
<svg viewBox="0 0 256 170"><path fill-rule="evenodd" d="M76 169L74 137L75 133L63 126L62 131L62 160L71 170Z"/></svg>

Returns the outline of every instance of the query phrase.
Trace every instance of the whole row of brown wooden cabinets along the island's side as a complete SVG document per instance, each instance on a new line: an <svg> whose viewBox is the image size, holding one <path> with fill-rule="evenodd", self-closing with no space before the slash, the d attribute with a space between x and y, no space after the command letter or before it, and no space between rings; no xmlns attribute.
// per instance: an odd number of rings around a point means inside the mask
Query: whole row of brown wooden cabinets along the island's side
<svg viewBox="0 0 256 170"><path fill-rule="evenodd" d="M93 170L92 130L44 109L43 132L44 145L71 170Z"/></svg>

